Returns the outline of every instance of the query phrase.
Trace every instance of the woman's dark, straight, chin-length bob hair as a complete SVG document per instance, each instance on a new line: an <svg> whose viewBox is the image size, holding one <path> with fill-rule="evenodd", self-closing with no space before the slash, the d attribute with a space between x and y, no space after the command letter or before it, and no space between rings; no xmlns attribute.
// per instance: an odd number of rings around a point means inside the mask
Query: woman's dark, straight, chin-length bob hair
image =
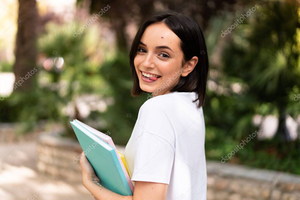
<svg viewBox="0 0 300 200"><path fill-rule="evenodd" d="M205 101L208 75L208 56L205 40L201 28L193 19L174 10L164 10L154 13L154 15L150 16L142 23L137 31L129 55L130 68L134 80L131 95L137 97L142 92L145 92L140 88L139 78L134 67L134 58L137 55L138 46L145 29L155 22L165 23L179 37L180 48L184 55L182 67L185 62L189 61L193 56L198 57L198 63L193 71L185 77L180 76L179 82L170 91L196 92L198 97L196 100L193 100L193 102L199 100L198 108L200 108L204 105Z"/></svg>

